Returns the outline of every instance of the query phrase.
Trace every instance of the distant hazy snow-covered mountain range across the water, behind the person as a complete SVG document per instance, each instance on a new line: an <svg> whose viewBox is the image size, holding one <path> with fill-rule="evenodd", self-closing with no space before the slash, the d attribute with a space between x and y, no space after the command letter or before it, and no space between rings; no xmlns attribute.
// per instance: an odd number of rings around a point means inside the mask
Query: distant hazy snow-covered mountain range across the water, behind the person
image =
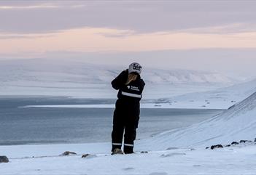
<svg viewBox="0 0 256 175"><path fill-rule="evenodd" d="M0 94L115 97L110 81L125 67L91 65L82 60L9 60L0 62ZM220 73L144 68L144 97L156 99L237 83Z"/></svg>

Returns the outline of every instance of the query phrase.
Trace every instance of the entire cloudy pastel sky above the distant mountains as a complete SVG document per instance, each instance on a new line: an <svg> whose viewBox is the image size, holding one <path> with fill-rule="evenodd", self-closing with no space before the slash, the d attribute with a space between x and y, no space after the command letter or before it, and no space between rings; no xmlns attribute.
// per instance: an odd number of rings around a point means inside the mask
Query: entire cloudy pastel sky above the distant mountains
<svg viewBox="0 0 256 175"><path fill-rule="evenodd" d="M256 75L253 0L0 0L0 60Z"/></svg>

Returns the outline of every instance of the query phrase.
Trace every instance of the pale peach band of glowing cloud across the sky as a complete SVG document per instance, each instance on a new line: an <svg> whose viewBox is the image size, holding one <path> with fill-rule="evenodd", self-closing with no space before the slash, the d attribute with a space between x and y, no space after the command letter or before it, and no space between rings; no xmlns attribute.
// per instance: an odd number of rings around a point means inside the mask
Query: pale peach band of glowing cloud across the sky
<svg viewBox="0 0 256 175"><path fill-rule="evenodd" d="M239 33L194 33L189 30L136 33L133 30L114 28L74 28L55 33L0 33L0 47L0 54L60 50L147 52L212 48L242 49L256 48L256 30Z"/></svg>

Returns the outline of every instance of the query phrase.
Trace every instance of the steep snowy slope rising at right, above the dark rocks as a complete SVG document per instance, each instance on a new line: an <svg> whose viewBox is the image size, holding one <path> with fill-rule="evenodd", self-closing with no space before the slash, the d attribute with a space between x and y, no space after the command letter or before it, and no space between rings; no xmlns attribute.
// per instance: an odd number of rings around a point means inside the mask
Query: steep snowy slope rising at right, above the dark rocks
<svg viewBox="0 0 256 175"><path fill-rule="evenodd" d="M151 149L163 150L168 147L201 147L230 144L241 139L254 140L255 116L256 92L214 118L141 141L140 147L152 145Z"/></svg>

